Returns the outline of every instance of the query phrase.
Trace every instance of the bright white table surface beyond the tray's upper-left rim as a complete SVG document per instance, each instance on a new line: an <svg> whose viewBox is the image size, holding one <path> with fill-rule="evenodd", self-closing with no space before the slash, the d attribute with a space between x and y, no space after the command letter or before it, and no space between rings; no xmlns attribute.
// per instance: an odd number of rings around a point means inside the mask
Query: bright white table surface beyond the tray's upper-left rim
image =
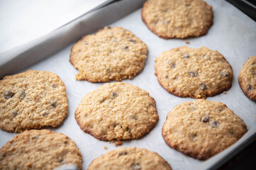
<svg viewBox="0 0 256 170"><path fill-rule="evenodd" d="M0 52L39 38L107 0L0 0Z"/></svg>

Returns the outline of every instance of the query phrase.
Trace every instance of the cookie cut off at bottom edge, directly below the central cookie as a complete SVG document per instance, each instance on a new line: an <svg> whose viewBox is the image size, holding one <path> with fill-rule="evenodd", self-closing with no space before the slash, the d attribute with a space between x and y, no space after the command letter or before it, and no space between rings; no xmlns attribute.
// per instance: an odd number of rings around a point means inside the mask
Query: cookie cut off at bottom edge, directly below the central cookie
<svg viewBox="0 0 256 170"><path fill-rule="evenodd" d="M88 170L115 170L120 169L120 167L122 167L123 170L171 170L171 166L156 152L136 147L121 147L106 152L106 154L101 155L101 157L94 159L89 165Z"/></svg>

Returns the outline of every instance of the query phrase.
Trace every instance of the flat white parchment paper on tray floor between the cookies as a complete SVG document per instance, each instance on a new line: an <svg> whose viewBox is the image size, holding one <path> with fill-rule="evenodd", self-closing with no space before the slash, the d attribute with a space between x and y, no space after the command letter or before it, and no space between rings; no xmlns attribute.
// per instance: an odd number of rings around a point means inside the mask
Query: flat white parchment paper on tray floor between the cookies
<svg viewBox="0 0 256 170"><path fill-rule="evenodd" d="M171 147L168 147L162 138L161 130L167 113L171 111L174 106L184 101L194 100L193 98L179 98L173 96L158 84L157 77L154 75L154 66L155 58L158 57L162 51L187 45L194 48L205 46L211 50L221 52L233 67L233 85L227 91L227 94L218 94L217 96L208 97L206 99L225 103L228 108L233 110L236 115L240 116L240 118L245 121L248 130L256 124L256 103L255 101L250 101L250 99L243 94L243 91L241 91L238 85L238 74L241 67L243 67L243 63L248 57L256 55L256 23L226 1L207 2L213 6L213 26L210 28L207 35L187 39L190 42L189 45L185 43L185 40L164 40L158 38L157 35L148 30L141 20L141 9L130 13L130 15L110 25L121 26L132 31L148 45L148 59L146 60L143 72L138 74L134 79L124 81L148 91L150 96L155 98L159 115L159 120L155 128L153 128L148 135L145 135L145 137L140 140L124 141L121 147L143 147L150 151L157 152L169 162L173 169L197 169L198 166L201 166L201 164L207 161L199 161L187 157L181 152L177 152ZM78 71L69 63L69 53L72 45L65 47L65 49L52 55L52 57L23 71L35 69L54 72L65 82L69 114L59 128L51 128L50 130L62 132L77 143L77 147L79 147L82 152L83 169L87 169L93 159L109 150L117 149L117 147L115 147L113 143L96 140L96 138L91 135L84 133L74 119L74 112L82 97L89 91L93 91L103 84L92 84L87 81L76 81L74 79ZM11 137L14 135L16 134L0 130L0 147L4 146L8 140L11 140ZM107 149L104 149L104 146L106 146Z"/></svg>

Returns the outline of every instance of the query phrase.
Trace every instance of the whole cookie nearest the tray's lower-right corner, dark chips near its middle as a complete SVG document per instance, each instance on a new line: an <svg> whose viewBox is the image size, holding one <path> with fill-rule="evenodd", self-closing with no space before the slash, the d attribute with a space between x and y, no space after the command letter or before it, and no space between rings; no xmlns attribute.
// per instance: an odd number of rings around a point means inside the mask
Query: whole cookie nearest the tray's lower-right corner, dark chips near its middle
<svg viewBox="0 0 256 170"><path fill-rule="evenodd" d="M175 106L162 137L170 147L196 159L208 159L242 137L247 128L225 104L199 99Z"/></svg>

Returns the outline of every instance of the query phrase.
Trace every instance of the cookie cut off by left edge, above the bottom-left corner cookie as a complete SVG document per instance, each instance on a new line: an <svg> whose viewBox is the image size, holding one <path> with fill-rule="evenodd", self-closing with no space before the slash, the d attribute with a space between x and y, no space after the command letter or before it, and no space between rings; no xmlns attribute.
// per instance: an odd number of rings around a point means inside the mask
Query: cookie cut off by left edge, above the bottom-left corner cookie
<svg viewBox="0 0 256 170"><path fill-rule="evenodd" d="M0 81L0 128L23 132L57 127L66 118L67 94L52 72L28 70Z"/></svg>

